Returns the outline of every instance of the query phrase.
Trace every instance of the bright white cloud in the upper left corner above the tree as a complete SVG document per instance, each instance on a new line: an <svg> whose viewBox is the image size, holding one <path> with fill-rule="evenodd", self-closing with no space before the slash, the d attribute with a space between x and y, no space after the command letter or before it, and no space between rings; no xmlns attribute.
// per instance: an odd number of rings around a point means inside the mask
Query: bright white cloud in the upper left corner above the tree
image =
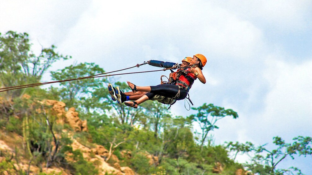
<svg viewBox="0 0 312 175"><path fill-rule="evenodd" d="M27 32L39 53L41 45L59 46L88 6L86 1L1 1L0 32Z"/></svg>

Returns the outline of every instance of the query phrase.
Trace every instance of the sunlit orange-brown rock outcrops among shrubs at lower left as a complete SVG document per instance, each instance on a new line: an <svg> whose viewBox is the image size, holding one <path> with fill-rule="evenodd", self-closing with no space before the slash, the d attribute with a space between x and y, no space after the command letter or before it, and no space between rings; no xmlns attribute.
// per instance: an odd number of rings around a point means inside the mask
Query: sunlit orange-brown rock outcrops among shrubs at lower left
<svg viewBox="0 0 312 175"><path fill-rule="evenodd" d="M115 162L113 165L107 163L105 159L109 156L109 150L105 149L101 145L91 144L89 143L88 146L81 144L78 140L73 138L74 132L81 132L81 131L88 131L87 122L82 121L79 118L78 112L75 111L75 108L71 107L67 111L65 110L65 103L58 102L55 100L45 100L41 103L50 106L52 112L56 114L57 120L56 123L58 124L67 124L69 125L73 132L68 132L69 138L72 141L70 145L75 150L80 150L83 155L83 158L92 163L96 168L99 170L99 174L134 174L131 168L129 167L121 167L119 165L118 158L112 154L111 155L111 162ZM19 116L16 116L18 119ZM15 132L7 132L2 128L0 134L0 162L7 163L7 167L1 166L0 164L0 174L15 174L16 171L23 171L29 172L30 174L38 174L40 172L46 174L62 174L67 175L71 174L70 170L64 169L61 167L52 166L50 168L42 168L30 163L28 159L24 158L22 154L18 154L20 156L16 156L17 150L24 150L26 147L25 139L18 135ZM57 138L61 137L60 135L56 135ZM55 145L54 145L55 147ZM66 155L66 162L70 163L74 161L71 158L71 154ZM7 169L5 169L7 168Z"/></svg>

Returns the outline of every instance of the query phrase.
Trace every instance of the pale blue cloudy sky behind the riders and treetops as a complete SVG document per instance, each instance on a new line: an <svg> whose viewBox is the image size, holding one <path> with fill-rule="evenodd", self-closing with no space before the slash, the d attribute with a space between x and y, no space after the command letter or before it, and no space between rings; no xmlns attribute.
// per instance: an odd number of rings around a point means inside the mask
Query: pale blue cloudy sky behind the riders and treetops
<svg viewBox="0 0 312 175"><path fill-rule="evenodd" d="M215 144L286 142L312 136L312 1L5 1L0 0L0 32L27 32L32 50L56 45L71 55L50 71L94 62L105 71L147 60L180 62L200 53L207 83L195 81L193 107L213 103L233 109L212 135ZM143 65L130 71L157 70ZM166 72L115 77L139 86L157 85ZM49 81L46 73L42 81ZM171 113L187 111L184 100ZM274 148L272 144L269 144ZM244 161L244 157L238 158ZM312 157L287 158L278 168L296 166L312 174Z"/></svg>

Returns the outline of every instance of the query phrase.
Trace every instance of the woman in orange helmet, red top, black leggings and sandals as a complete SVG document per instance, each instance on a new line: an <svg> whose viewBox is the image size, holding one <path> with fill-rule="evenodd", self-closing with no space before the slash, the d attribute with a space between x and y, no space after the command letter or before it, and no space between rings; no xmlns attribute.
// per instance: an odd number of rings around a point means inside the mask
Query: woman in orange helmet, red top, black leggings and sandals
<svg viewBox="0 0 312 175"><path fill-rule="evenodd" d="M206 65L207 59L202 54L195 54L190 61L192 68L188 68L182 73L174 84L159 84L157 86L136 86L127 81L132 92L144 91L148 92L133 102L124 102L126 106L137 108L139 104L152 99L155 95L170 97L176 100L183 100L187 97L189 89L192 87L195 79L206 83L206 79L202 74L202 68Z"/></svg>

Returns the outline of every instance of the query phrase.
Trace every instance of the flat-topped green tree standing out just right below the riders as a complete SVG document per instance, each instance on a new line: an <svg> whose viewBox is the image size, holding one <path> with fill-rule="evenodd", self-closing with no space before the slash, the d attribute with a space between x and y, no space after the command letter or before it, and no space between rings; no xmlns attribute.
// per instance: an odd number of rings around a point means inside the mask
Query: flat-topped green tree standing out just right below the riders
<svg viewBox="0 0 312 175"><path fill-rule="evenodd" d="M191 115L189 118L197 122L201 128L201 138L199 140L201 149L206 142L208 132L219 128L216 125L218 120L226 116L232 116L234 119L238 118L237 113L232 109L224 109L223 107L214 106L213 104L207 105L204 103L202 106L197 108L192 107L192 109L198 111L196 115Z"/></svg>

